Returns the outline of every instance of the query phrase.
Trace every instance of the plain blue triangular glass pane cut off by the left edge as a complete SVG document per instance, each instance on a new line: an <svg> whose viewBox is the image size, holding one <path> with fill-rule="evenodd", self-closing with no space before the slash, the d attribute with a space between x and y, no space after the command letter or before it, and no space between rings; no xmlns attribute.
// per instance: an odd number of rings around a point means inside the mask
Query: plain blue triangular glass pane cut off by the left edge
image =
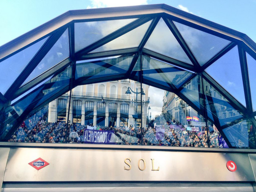
<svg viewBox="0 0 256 192"><path fill-rule="evenodd" d="M0 62L0 81L4 82L0 86L2 94L5 94L47 39L48 37Z"/></svg>

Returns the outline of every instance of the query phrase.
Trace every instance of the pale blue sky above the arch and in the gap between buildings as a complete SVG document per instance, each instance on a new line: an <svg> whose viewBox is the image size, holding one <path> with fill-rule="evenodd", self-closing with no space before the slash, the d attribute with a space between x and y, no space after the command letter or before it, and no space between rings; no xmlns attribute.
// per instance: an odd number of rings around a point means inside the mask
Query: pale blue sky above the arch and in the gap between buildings
<svg viewBox="0 0 256 192"><path fill-rule="evenodd" d="M158 3L238 30L256 42L256 0L0 0L0 46L69 10ZM154 94L149 95L153 118L161 113L164 91L150 87L149 93Z"/></svg>

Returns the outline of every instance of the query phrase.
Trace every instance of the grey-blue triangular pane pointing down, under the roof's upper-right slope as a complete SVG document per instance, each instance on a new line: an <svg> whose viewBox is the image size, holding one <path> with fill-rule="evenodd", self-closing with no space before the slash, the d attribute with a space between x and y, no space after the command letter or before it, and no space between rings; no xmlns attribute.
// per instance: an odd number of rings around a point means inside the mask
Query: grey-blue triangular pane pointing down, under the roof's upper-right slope
<svg viewBox="0 0 256 192"><path fill-rule="evenodd" d="M174 21L189 48L202 66L226 47L230 41Z"/></svg>

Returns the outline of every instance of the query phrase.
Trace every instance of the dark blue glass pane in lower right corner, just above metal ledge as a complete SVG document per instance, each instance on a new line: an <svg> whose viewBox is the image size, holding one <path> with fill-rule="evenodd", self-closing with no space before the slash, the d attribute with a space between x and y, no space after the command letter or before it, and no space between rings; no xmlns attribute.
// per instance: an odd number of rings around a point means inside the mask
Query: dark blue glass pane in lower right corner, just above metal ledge
<svg viewBox="0 0 256 192"><path fill-rule="evenodd" d="M235 125L223 129L233 147L255 149L255 127L249 120L241 120Z"/></svg>

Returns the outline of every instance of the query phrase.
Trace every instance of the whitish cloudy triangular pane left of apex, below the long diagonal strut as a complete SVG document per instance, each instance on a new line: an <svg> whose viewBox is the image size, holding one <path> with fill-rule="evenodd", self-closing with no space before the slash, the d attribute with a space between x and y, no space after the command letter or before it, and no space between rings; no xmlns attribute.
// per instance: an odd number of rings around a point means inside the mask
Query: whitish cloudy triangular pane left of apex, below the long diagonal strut
<svg viewBox="0 0 256 192"><path fill-rule="evenodd" d="M138 47L144 35L146 34L146 30L149 28L151 22L152 20L146 22L143 25L140 25L134 30L129 31L128 33L116 38L113 41L110 41L104 46L101 46L98 49L93 50L91 53Z"/></svg>

